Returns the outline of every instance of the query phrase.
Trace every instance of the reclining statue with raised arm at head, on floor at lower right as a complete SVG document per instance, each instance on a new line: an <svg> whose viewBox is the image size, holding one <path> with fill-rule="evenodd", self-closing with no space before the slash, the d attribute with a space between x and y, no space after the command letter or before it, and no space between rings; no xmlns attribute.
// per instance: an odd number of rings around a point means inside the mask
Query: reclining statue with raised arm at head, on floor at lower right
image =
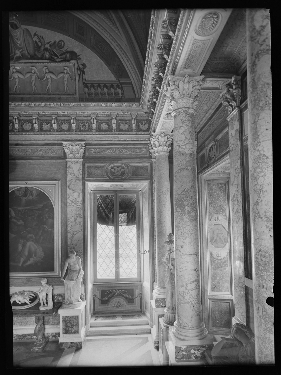
<svg viewBox="0 0 281 375"><path fill-rule="evenodd" d="M231 335L223 338L211 352L213 365L255 365L255 341L252 331L236 323Z"/></svg>

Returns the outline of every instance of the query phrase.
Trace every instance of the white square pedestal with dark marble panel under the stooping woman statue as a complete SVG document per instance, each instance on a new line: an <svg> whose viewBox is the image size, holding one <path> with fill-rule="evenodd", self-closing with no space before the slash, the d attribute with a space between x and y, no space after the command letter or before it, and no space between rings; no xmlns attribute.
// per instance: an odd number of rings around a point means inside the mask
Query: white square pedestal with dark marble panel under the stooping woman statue
<svg viewBox="0 0 281 375"><path fill-rule="evenodd" d="M81 306L76 308L65 309L61 307L59 309L59 348L82 348L86 338L85 306L86 302L84 301Z"/></svg>

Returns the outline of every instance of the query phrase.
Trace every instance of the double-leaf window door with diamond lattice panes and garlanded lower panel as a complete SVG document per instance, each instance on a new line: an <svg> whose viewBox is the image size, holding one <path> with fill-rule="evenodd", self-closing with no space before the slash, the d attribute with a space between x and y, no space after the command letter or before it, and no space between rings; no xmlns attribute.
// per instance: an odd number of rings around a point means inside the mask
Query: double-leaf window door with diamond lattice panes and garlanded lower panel
<svg viewBox="0 0 281 375"><path fill-rule="evenodd" d="M94 311L141 312L139 192L95 192Z"/></svg>

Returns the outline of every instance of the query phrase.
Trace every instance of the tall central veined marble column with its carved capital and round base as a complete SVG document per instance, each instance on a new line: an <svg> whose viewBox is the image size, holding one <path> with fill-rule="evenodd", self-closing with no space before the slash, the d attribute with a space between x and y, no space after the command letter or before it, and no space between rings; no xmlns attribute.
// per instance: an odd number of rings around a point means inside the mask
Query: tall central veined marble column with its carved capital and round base
<svg viewBox="0 0 281 375"><path fill-rule="evenodd" d="M174 244L176 321L170 328L168 353L190 364L203 361L191 350L212 348L212 338L201 320L199 212L193 115L204 76L169 76L166 96L174 118ZM170 342L171 341L171 342ZM190 356L189 356L190 354ZM198 363L196 363L198 364Z"/></svg>

